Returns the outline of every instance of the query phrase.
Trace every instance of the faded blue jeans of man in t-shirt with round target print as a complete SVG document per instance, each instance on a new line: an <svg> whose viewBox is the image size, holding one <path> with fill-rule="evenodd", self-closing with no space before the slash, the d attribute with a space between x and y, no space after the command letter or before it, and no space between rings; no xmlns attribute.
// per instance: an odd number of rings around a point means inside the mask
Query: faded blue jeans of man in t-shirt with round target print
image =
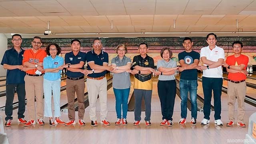
<svg viewBox="0 0 256 144"><path fill-rule="evenodd" d="M187 117L188 92L191 101L191 116L192 118L197 118L197 86L197 80L180 80L181 118Z"/></svg>

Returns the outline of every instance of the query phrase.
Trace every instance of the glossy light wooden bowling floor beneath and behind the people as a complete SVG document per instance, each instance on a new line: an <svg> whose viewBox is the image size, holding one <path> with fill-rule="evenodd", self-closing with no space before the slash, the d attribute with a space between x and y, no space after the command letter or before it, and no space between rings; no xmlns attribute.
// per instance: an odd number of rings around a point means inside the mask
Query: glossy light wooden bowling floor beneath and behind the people
<svg viewBox="0 0 256 144"><path fill-rule="evenodd" d="M227 74L224 73L223 87L227 87ZM65 77L65 76L64 76ZM254 74L252 74L246 80L251 84L256 84L256 80L253 79ZM111 79L112 76L110 73L107 74L107 79ZM197 124L195 126L190 126L189 122L185 125L178 125L180 120L180 97L176 95L175 104L174 104L174 115L173 115L173 126L160 126L162 121L160 100L157 92L157 82L158 77L153 78L153 92L152 92L152 114L151 114L151 126L146 126L144 123L145 113L142 112L142 121L139 126L133 126L134 122L134 112L130 111L127 115L128 125L114 125L116 121L116 110L115 110L115 96L113 88L110 87L108 90L108 116L107 119L111 123L110 126L104 126L99 124L98 126L91 126L89 119L89 108L86 108L84 121L86 126L79 126L77 123L78 113L76 112L76 124L71 126L64 125L55 125L49 126L48 118L44 118L45 125L40 126L38 124L24 127L23 124L17 122L17 109L13 111L13 121L12 126L5 127L4 132L8 136L10 144L226 144L243 142L246 138L245 135L248 132L248 119L251 114L256 112L256 107L251 104L245 103L246 113L244 116L244 122L246 127L242 128L236 124L227 127L226 123L228 122L228 111L227 111L227 94L222 92L222 113L221 120L224 123L224 126L217 126L214 124L214 111L210 115L210 124L201 125L200 122L203 119L203 114L198 111ZM202 74L198 74L198 79L202 78ZM133 84L134 76L131 75L131 80ZM180 79L180 74L176 74L176 80ZM3 82L4 83L4 82ZM0 83L2 84L2 82ZM63 78L62 86L66 86L66 79ZM178 86L178 83L177 83ZM1 87L2 88L2 87ZM2 88L2 89L5 89ZM2 91L1 89L1 91ZM85 92L87 92L85 88ZM133 92L133 85L130 90L130 100ZM202 82L198 80L198 96L203 97L202 92ZM256 98L255 88L248 87L246 95ZM17 102L17 96L14 98L14 102ZM66 90L61 92L60 105L63 106L67 103ZM0 106L4 106L5 97L0 97ZM213 105L213 98L212 98ZM235 118L237 104L235 107ZM61 118L64 121L68 121L68 113L61 112ZM99 120L100 115L100 105L99 100L97 102L97 117ZM0 111L0 116L4 119L4 111ZM190 120L190 110L188 108L187 119ZM27 111L25 112L25 119L27 119ZM5 121L4 121L5 122ZM235 123L237 121L235 120ZM0 127L1 128L1 127ZM3 131L3 130L0 130ZM0 142L1 143L1 142Z"/></svg>

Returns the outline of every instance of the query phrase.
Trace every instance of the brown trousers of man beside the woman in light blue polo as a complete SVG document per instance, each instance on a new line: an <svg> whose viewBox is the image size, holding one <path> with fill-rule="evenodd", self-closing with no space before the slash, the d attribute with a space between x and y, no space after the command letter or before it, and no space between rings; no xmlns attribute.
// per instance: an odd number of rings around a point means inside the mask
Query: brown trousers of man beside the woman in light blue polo
<svg viewBox="0 0 256 144"><path fill-rule="evenodd" d="M68 119L75 120L75 93L78 100L78 119L84 119L84 79L67 79Z"/></svg>

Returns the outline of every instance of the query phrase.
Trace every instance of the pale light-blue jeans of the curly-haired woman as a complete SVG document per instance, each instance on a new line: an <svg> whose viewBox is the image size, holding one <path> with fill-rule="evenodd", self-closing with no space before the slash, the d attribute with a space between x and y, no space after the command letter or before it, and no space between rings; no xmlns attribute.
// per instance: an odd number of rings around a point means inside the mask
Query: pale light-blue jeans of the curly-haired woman
<svg viewBox="0 0 256 144"><path fill-rule="evenodd" d="M60 117L60 79L54 81L44 79L44 116L46 117L52 117L52 96L54 117Z"/></svg>

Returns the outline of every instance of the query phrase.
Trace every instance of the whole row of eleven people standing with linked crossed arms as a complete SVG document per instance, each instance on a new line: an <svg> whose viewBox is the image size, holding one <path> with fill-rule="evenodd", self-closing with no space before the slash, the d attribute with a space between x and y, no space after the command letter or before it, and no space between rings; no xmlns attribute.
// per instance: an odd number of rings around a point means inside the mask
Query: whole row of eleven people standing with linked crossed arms
<svg viewBox="0 0 256 144"><path fill-rule="evenodd" d="M246 126L244 118L244 98L246 94L246 66L248 57L242 55L242 42L236 41L232 44L234 55L228 56L224 62L224 50L216 46L217 36L210 33L206 36L209 46L201 49L200 54L192 50L193 42L191 38L184 38L184 52L178 54L180 66L172 60L170 48L163 48L160 52L162 60L158 60L156 71L154 60L147 55L148 45L140 43L139 55L134 56L133 61L126 57L127 47L119 44L116 48L118 54L108 64L108 53L102 51L100 38L93 40L93 50L84 53L80 51L81 42L78 39L71 41L72 51L66 53L65 58L58 56L61 49L58 44L49 44L46 50L42 50L42 39L35 36L32 40L32 49L22 50L22 37L19 34L12 36L14 47L7 50L1 64L7 69L6 75L6 123L4 126L11 126L12 103L14 92L17 91L19 108L18 122L30 126L36 122L44 125L43 117L49 117L50 126L56 123L70 126L75 122L75 93L78 100L78 123L84 126L84 89L88 91L90 108L90 120L92 126L97 126L96 102L99 96L100 102L100 123L110 125L106 119L107 108L107 80L106 72L112 71L113 90L116 97L116 125L127 125L128 97L130 93L130 73L134 74L134 126L141 121L142 98L145 102L145 124L150 126L151 98L152 98L152 77L154 73L158 75L158 96L161 103L162 122L160 125L172 126L172 116L176 96L176 80L174 74L178 70L180 76L180 97L181 97L181 119L178 124L186 123L188 92L191 100L191 120L190 124L196 124L197 118L197 70L203 70L202 85L204 92L204 119L201 124L210 123L210 106L212 91L214 96L214 123L223 125L221 113L221 88L222 88L222 65L227 68L228 74L228 118L227 126L234 124L234 103L238 98L238 125ZM48 55L48 56L46 56ZM204 65L198 66L200 60ZM87 62L88 68L84 69ZM60 82L61 70L67 68L66 92L68 97L68 122L60 119ZM44 94L44 104L43 104ZM27 98L28 121L24 119L25 95ZM35 99L36 96L36 99ZM54 100L54 117L52 115L52 97ZM36 100L36 107L35 107ZM36 114L36 115L35 115ZM37 121L35 121L37 119Z"/></svg>

